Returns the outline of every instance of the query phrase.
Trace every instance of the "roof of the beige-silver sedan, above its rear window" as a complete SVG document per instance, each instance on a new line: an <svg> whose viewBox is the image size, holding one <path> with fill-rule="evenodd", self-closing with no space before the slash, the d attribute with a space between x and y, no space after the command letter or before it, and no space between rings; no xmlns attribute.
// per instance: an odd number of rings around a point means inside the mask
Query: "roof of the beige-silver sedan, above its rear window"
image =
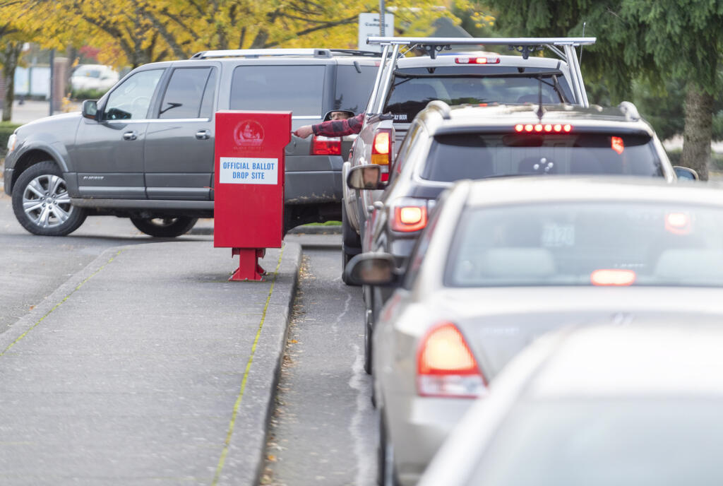
<svg viewBox="0 0 723 486"><path fill-rule="evenodd" d="M643 176L512 176L458 182L470 207L552 202L682 203L723 206L723 187Z"/></svg>

